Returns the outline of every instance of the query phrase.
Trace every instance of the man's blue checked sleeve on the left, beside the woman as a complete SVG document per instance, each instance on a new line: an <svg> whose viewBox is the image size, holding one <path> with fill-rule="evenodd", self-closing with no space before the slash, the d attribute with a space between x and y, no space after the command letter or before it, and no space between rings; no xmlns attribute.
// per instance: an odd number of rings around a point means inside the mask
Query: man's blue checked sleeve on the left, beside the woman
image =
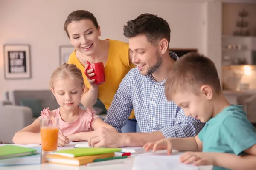
<svg viewBox="0 0 256 170"><path fill-rule="evenodd" d="M131 74L131 71L128 72L122 79L104 120L104 122L115 127L118 132L121 132L121 128L125 125L133 109L128 87Z"/></svg>

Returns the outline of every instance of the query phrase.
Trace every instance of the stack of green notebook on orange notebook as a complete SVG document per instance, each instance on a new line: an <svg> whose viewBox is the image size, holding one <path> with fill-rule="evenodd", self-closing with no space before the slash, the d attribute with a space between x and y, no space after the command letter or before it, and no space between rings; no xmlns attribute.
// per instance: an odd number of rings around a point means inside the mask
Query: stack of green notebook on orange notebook
<svg viewBox="0 0 256 170"><path fill-rule="evenodd" d="M74 148L57 151L46 156L46 161L56 164L84 165L99 159L109 159L115 156L115 152L120 152L118 148ZM127 157L127 156L126 156Z"/></svg>

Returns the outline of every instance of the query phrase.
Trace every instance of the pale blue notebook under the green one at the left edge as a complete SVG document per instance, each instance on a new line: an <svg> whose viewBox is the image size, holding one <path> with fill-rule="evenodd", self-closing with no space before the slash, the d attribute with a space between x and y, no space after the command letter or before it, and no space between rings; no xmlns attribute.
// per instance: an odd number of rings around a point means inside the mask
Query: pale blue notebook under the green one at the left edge
<svg viewBox="0 0 256 170"><path fill-rule="evenodd" d="M0 159L0 166L41 164L41 147L34 147L33 149L37 150L37 154L8 159Z"/></svg>

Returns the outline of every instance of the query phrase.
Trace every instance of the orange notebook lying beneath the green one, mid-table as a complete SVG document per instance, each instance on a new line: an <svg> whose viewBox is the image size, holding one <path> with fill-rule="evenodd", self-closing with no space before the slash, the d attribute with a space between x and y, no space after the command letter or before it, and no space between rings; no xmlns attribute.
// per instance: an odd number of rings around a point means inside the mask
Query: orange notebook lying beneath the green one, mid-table
<svg viewBox="0 0 256 170"><path fill-rule="evenodd" d="M91 155L91 156L79 156L75 158L70 158L62 155L49 155L46 156L46 161L49 163L57 163L57 164L68 164L68 165L83 165L87 163L93 162L94 159L100 158L111 158L115 155L115 153L104 153L100 155Z"/></svg>

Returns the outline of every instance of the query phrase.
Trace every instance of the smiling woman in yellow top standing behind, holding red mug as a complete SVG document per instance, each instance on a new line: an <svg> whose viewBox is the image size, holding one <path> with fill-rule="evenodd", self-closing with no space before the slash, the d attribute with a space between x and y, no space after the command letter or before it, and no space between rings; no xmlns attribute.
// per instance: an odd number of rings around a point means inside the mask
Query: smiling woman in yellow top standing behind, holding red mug
<svg viewBox="0 0 256 170"><path fill-rule="evenodd" d="M92 107L97 99L108 108L114 98L120 82L134 65L131 63L129 45L118 40L100 40L100 26L92 13L77 10L70 13L64 23L64 30L71 44L76 48L68 59L69 64L75 64L84 73L90 63L103 62L105 66L105 83L94 85L94 79L87 79L85 74L84 84L86 86L81 103L84 107ZM87 72L93 76L93 71ZM137 126L138 129L138 126ZM132 111L122 132L136 132L136 119Z"/></svg>

